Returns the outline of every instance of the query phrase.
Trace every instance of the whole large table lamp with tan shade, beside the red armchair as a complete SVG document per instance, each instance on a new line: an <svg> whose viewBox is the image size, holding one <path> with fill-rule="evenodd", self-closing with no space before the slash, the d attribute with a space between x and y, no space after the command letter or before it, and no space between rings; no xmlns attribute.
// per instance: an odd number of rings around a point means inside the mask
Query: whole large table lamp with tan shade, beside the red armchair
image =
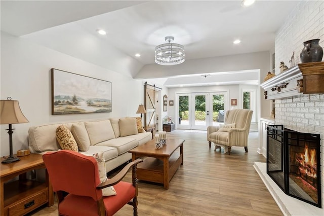
<svg viewBox="0 0 324 216"><path fill-rule="evenodd" d="M9 129L6 130L8 130L9 133L10 147L10 155L7 159L2 161L2 163L12 163L20 160L20 158L13 155L12 134L15 129L12 128L12 124L28 123L29 121L21 112L18 100L11 100L11 97L8 97L7 100L0 101L0 124L9 124Z"/></svg>

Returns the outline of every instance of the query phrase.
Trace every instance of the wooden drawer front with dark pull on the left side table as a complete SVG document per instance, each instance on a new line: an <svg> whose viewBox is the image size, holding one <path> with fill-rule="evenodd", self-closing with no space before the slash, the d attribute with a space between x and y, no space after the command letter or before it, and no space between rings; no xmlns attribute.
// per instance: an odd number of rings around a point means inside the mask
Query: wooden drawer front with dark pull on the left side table
<svg viewBox="0 0 324 216"><path fill-rule="evenodd" d="M32 197L9 206L8 215L23 215L48 202L48 191L45 189Z"/></svg>

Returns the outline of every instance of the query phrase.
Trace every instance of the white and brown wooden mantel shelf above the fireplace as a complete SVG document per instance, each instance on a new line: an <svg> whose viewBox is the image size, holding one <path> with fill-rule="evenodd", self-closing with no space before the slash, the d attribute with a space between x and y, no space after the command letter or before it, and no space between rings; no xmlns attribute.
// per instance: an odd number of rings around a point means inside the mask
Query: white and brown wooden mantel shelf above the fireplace
<svg viewBox="0 0 324 216"><path fill-rule="evenodd" d="M324 93L324 62L295 65L260 86L265 90L264 99L267 100Z"/></svg>

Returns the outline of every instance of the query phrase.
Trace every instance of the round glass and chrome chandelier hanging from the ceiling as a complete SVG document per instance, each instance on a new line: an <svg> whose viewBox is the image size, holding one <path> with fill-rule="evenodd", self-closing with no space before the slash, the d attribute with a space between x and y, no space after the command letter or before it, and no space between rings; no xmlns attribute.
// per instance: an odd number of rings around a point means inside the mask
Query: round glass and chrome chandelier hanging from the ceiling
<svg viewBox="0 0 324 216"><path fill-rule="evenodd" d="M184 62L184 47L180 44L171 43L174 37L165 38L167 44L155 47L155 62L161 65L175 65Z"/></svg>

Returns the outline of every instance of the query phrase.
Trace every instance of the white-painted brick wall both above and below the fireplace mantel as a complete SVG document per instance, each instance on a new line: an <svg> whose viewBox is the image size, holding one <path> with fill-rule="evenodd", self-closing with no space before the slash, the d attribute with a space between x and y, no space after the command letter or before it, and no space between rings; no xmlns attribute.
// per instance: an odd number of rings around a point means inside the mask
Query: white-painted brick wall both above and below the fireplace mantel
<svg viewBox="0 0 324 216"><path fill-rule="evenodd" d="M320 39L324 47L324 1L301 1L289 14L275 37L275 73L280 61L289 67L295 52L300 63L303 42ZM296 63L297 63L296 62ZM275 124L299 132L320 134L321 200L324 208L324 94L306 94L275 100Z"/></svg>

